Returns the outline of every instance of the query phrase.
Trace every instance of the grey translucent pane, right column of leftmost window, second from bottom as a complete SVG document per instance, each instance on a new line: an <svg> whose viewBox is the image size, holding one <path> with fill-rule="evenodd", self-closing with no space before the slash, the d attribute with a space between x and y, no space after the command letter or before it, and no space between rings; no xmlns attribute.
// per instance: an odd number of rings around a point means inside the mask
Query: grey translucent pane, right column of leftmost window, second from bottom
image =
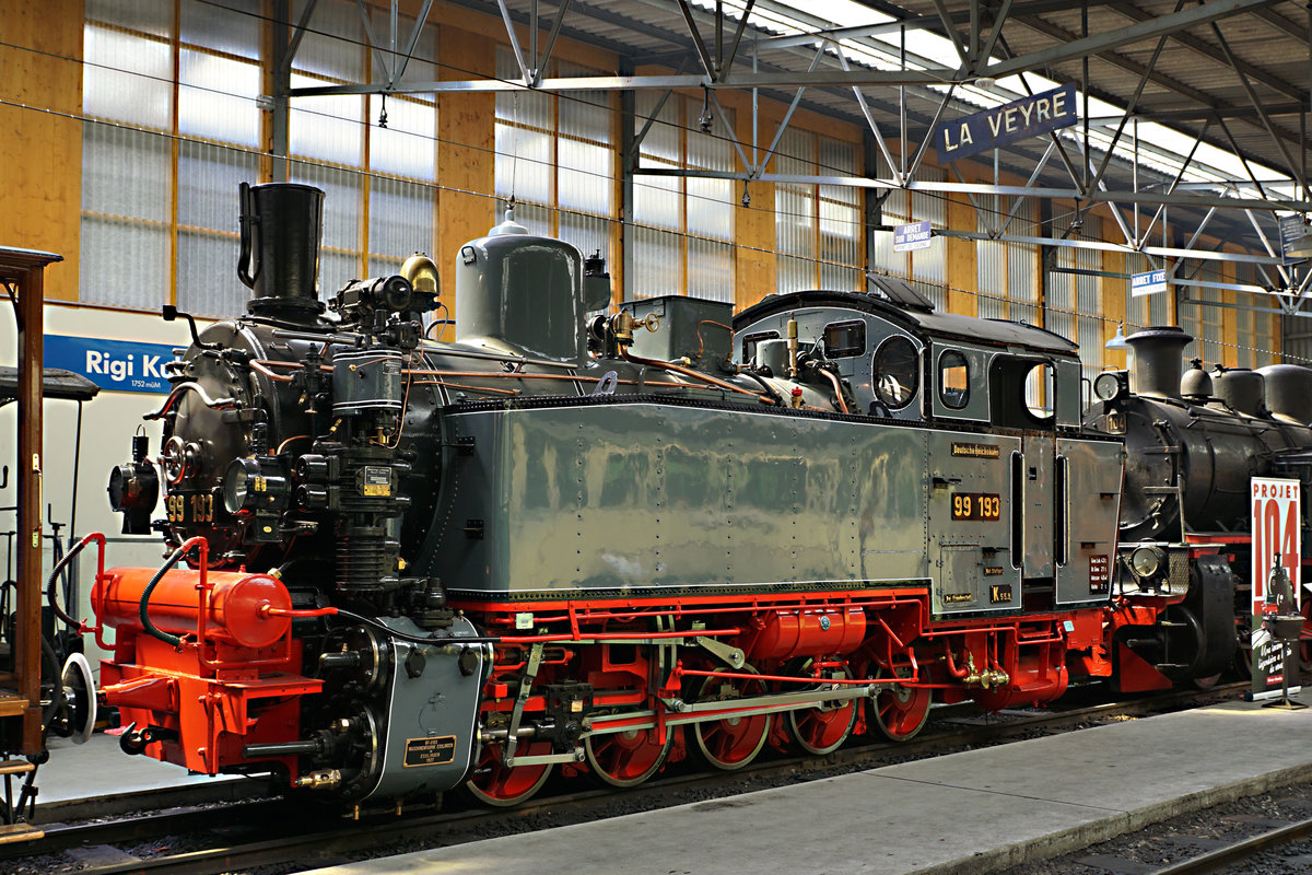
<svg viewBox="0 0 1312 875"><path fill-rule="evenodd" d="M236 232L237 189L260 181L260 157L241 150L182 140L177 155L177 223ZM236 265L236 251L232 253ZM236 270L236 268L232 268Z"/></svg>

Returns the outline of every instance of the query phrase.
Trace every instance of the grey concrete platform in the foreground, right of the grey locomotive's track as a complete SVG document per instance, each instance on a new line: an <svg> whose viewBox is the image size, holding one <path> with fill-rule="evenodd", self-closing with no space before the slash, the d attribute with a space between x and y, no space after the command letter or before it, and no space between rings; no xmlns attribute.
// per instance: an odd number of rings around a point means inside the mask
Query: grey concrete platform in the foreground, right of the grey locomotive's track
<svg viewBox="0 0 1312 875"><path fill-rule="evenodd" d="M1235 702L314 875L975 875L1308 777L1312 708Z"/></svg>

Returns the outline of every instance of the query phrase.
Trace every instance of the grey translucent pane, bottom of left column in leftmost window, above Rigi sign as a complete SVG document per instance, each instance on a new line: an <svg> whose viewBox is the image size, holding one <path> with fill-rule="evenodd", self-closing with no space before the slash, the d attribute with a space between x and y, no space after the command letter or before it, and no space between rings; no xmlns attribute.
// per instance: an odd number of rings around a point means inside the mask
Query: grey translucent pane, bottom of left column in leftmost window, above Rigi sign
<svg viewBox="0 0 1312 875"><path fill-rule="evenodd" d="M79 300L154 310L169 303L168 228L83 216Z"/></svg>

